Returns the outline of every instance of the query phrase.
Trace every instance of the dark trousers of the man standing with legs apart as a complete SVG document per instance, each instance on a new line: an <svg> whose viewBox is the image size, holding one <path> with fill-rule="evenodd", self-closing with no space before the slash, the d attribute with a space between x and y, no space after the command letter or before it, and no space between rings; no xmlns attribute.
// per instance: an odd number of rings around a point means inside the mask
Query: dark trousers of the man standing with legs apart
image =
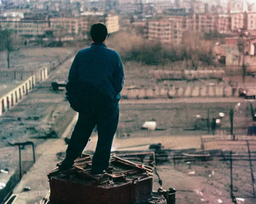
<svg viewBox="0 0 256 204"><path fill-rule="evenodd" d="M92 107L86 112L79 113L65 160L73 162L81 156L92 130L97 125L98 142L92 158L92 174L100 174L108 169L112 141L119 120L119 106L117 101L115 103L112 110L106 110L106 107Z"/></svg>

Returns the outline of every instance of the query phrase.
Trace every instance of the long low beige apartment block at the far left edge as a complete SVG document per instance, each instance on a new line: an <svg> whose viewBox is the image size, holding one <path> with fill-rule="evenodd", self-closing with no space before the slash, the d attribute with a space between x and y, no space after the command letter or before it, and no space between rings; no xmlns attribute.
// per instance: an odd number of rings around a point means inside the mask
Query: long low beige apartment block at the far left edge
<svg viewBox="0 0 256 204"><path fill-rule="evenodd" d="M1 18L2 29L12 29L20 36L40 36L49 29L49 22L46 20L26 20L21 18Z"/></svg>

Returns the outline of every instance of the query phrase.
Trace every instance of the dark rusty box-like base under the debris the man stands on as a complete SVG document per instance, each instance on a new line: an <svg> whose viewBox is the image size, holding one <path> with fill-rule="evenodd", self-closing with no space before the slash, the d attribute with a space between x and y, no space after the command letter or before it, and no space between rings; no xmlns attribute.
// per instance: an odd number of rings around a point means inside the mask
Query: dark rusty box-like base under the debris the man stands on
<svg viewBox="0 0 256 204"><path fill-rule="evenodd" d="M60 204L137 204L151 197L152 177L106 187L94 182L51 177L50 202Z"/></svg>

